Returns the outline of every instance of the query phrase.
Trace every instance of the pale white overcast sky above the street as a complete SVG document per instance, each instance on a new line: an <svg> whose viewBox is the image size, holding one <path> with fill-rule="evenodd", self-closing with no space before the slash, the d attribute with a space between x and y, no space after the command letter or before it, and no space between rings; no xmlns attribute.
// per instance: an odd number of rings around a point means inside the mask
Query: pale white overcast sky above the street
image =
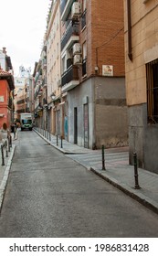
<svg viewBox="0 0 158 256"><path fill-rule="evenodd" d="M50 0L0 0L0 49L6 48L15 75L40 58Z"/></svg>

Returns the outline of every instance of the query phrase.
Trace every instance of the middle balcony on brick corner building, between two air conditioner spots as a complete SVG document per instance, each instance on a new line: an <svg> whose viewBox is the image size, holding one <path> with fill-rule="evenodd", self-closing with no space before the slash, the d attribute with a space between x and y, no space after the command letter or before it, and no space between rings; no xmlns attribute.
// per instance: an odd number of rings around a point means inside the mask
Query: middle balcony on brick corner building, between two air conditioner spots
<svg viewBox="0 0 158 256"><path fill-rule="evenodd" d="M70 48L76 41L79 41L79 22L70 21L61 39L61 50Z"/></svg>

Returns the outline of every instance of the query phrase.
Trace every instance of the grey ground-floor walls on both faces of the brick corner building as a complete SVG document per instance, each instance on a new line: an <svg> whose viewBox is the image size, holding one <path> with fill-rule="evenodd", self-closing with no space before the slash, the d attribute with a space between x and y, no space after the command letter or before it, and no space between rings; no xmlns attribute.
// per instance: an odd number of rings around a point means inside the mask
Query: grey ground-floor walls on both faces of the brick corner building
<svg viewBox="0 0 158 256"><path fill-rule="evenodd" d="M124 78L91 78L68 91L68 141L74 143L74 108L78 109L78 144L84 146L83 106L89 104L89 147L128 144Z"/></svg>

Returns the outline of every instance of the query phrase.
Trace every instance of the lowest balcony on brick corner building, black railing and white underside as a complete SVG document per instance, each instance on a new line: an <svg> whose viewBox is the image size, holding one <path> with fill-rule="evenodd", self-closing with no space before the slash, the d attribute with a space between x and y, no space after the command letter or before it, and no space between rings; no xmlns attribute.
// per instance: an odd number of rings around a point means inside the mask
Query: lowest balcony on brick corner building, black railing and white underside
<svg viewBox="0 0 158 256"><path fill-rule="evenodd" d="M62 91L69 91L79 85L78 67L71 65L61 77Z"/></svg>

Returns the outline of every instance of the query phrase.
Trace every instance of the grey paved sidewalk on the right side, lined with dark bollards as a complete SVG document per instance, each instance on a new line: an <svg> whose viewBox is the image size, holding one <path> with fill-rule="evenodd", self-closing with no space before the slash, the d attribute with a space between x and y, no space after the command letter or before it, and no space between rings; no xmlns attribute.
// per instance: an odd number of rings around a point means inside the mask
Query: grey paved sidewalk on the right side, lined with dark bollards
<svg viewBox="0 0 158 256"><path fill-rule="evenodd" d="M53 145L63 154L84 165L96 175L101 176L114 187L118 187L145 207L158 213L158 175L138 168L138 180L141 188L135 189L134 166L129 165L128 147L106 149L104 153L106 170L102 170L101 150L79 147L77 144L70 144L66 140L62 140L61 143L59 137L57 145L57 136L43 131L43 133L39 132L37 133L48 144Z"/></svg>

